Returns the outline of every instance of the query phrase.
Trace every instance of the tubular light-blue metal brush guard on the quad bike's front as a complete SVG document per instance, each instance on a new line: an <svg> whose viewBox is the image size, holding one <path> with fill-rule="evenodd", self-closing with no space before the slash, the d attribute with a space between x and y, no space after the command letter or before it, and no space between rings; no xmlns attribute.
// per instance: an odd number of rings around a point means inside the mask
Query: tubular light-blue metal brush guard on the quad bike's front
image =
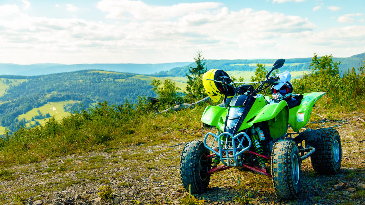
<svg viewBox="0 0 365 205"><path fill-rule="evenodd" d="M207 138L209 135L214 136L214 140L212 142L212 146L208 146L207 144ZM220 137L224 135L226 137L225 141L222 141L220 139ZM244 137L241 138L241 140L238 139L239 136L244 135ZM243 147L243 140L247 139L249 142L249 145L247 147ZM232 139L232 140L228 140L228 139ZM235 142L235 139L237 139L238 143ZM218 149L219 152L213 150L213 146L215 142L218 142ZM228 146L228 144L231 143L232 146ZM224 145L224 147L222 147L222 145ZM237 146L236 146L237 145ZM231 133L229 132L223 132L222 134L220 134L219 136L215 135L212 132L208 132L205 135L204 138L204 146L208 148L208 150L212 151L214 154L216 154L217 156L219 156L220 161L225 165L225 166L232 166L232 167L237 167L237 166L242 166L242 163L238 162L237 157L239 155L242 155L243 152L248 151L250 149L252 145L251 139L250 137L245 133L245 132L240 132L237 135L233 136ZM233 154L233 155L230 155ZM223 157L223 155L225 155L225 157ZM232 160L234 161L234 163L231 163Z"/></svg>

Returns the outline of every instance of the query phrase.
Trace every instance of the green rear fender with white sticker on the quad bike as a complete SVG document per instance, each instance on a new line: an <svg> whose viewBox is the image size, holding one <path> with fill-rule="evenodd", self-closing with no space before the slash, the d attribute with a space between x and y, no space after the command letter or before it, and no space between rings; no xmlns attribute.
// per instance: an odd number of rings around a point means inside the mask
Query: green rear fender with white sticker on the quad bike
<svg viewBox="0 0 365 205"><path fill-rule="evenodd" d="M324 96L325 92L304 93L300 105L289 109L289 124L295 132L303 128L311 117L314 103Z"/></svg>

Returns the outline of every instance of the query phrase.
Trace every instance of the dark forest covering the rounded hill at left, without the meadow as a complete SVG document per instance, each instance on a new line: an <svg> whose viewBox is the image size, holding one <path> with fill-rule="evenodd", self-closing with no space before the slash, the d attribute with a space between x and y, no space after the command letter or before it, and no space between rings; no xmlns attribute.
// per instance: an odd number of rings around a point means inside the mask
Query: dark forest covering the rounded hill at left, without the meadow
<svg viewBox="0 0 365 205"><path fill-rule="evenodd" d="M132 76L134 74L97 70L32 77L0 76L27 80L19 85L10 84L6 93L0 97L1 126L6 126L11 131L16 131L19 126L24 127L27 121L17 117L47 102L74 100L81 102L87 109L97 102L107 101L119 105L124 104L125 100L135 102L138 95L155 96L149 83L130 78ZM73 112L80 111L82 107L80 103L69 103L64 109ZM43 117L47 114L40 113Z"/></svg>

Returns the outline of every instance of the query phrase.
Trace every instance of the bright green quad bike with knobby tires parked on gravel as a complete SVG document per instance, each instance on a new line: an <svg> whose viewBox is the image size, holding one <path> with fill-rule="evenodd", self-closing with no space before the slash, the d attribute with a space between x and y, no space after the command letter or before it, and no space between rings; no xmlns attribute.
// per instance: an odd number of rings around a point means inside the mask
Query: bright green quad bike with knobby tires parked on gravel
<svg viewBox="0 0 365 205"><path fill-rule="evenodd" d="M255 83L258 84L257 89L247 83L234 88L235 96L227 101L227 108L212 105L205 108L201 121L218 131L216 134L208 132L203 142L195 140L185 145L180 174L186 190L191 185L192 193L204 193L211 174L236 167L271 177L276 195L291 199L299 197L301 161L308 156L311 156L317 173L334 174L339 171L342 151L336 129L299 132L308 123L314 103L324 92L293 94L289 101L275 101L258 94L280 81L276 76L268 76L284 62L284 59L276 60L272 70L266 74L266 80ZM234 85L227 76L217 79L206 80L218 82L225 89ZM287 133L288 124L295 132ZM292 134L298 135L291 138ZM219 166L220 163L222 165ZM271 166L271 169L266 166Z"/></svg>

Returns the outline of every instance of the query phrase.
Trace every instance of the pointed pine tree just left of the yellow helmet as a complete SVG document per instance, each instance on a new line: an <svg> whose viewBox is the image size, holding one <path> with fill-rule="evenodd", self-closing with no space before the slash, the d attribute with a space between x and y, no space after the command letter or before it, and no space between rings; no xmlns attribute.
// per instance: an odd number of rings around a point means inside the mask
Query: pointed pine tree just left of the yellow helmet
<svg viewBox="0 0 365 205"><path fill-rule="evenodd" d="M185 98L189 101L196 100L207 96L205 93L202 76L207 71L207 68L204 67L205 61L201 52L198 51L196 57L194 58L196 67L189 67L189 74L185 73L188 82L186 86Z"/></svg>

